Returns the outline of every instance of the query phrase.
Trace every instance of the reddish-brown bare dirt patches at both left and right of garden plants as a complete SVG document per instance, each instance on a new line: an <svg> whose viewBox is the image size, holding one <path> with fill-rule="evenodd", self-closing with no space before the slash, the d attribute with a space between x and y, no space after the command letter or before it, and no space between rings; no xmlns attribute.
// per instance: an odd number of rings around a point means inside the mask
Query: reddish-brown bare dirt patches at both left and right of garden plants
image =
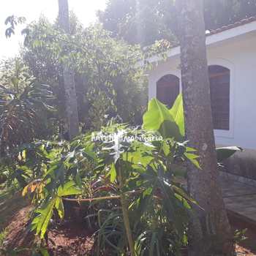
<svg viewBox="0 0 256 256"><path fill-rule="evenodd" d="M29 214L31 206L21 208L7 225L8 234L4 245L9 249L17 247L30 248L35 242L34 235L29 233ZM237 217L230 216L233 230L243 230L247 239L236 245L238 256L256 255L256 226L246 223ZM87 230L81 223L64 222L58 228L52 226L48 232L48 252L54 256L85 256L92 255L94 244L93 230ZM0 252L1 255L1 252ZM23 251L22 256L31 255L31 251Z"/></svg>

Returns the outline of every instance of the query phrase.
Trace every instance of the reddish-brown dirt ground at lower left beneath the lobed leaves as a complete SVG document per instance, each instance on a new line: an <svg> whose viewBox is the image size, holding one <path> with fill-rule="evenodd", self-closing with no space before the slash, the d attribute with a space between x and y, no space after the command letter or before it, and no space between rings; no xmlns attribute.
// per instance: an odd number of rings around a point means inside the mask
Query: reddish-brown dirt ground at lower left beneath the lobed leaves
<svg viewBox="0 0 256 256"><path fill-rule="evenodd" d="M31 255L31 248L37 244L35 236L29 232L30 206L20 209L7 225L7 236L4 241L5 249L11 252L15 248L23 248L18 255ZM58 228L50 227L47 233L48 252L54 256L85 256L90 255L94 245L92 230L86 230L80 223L64 222ZM1 255L1 253L0 253ZM5 255L4 255L5 256Z"/></svg>

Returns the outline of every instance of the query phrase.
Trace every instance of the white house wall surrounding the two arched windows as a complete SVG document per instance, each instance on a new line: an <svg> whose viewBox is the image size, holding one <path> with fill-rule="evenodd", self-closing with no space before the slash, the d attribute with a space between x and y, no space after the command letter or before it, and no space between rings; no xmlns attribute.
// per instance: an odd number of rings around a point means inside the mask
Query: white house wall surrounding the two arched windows
<svg viewBox="0 0 256 256"><path fill-rule="evenodd" d="M181 78L178 50L176 52L148 74L149 99L156 97L157 80L163 75L173 74ZM216 143L245 148L244 153L228 162L229 169L256 179L256 33L208 45L207 56L209 65L218 64L230 69L230 130L214 130ZM247 159L247 162L249 159L249 167L241 159Z"/></svg>

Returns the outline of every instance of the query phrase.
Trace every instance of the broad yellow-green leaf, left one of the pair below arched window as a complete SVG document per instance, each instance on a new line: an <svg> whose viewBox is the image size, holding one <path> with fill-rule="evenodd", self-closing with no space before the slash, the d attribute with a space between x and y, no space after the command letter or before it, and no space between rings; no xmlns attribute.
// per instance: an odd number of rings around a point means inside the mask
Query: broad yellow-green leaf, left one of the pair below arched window
<svg viewBox="0 0 256 256"><path fill-rule="evenodd" d="M169 110L157 99L148 102L148 111L143 116L143 129L158 131L163 138L182 140L178 125Z"/></svg>

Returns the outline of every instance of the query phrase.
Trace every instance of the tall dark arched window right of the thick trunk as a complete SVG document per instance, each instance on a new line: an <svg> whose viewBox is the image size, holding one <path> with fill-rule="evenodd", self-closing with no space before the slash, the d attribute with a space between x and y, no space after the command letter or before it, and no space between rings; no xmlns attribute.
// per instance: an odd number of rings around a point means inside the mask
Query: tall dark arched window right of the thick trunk
<svg viewBox="0 0 256 256"><path fill-rule="evenodd" d="M230 129L230 69L208 67L214 129Z"/></svg>

